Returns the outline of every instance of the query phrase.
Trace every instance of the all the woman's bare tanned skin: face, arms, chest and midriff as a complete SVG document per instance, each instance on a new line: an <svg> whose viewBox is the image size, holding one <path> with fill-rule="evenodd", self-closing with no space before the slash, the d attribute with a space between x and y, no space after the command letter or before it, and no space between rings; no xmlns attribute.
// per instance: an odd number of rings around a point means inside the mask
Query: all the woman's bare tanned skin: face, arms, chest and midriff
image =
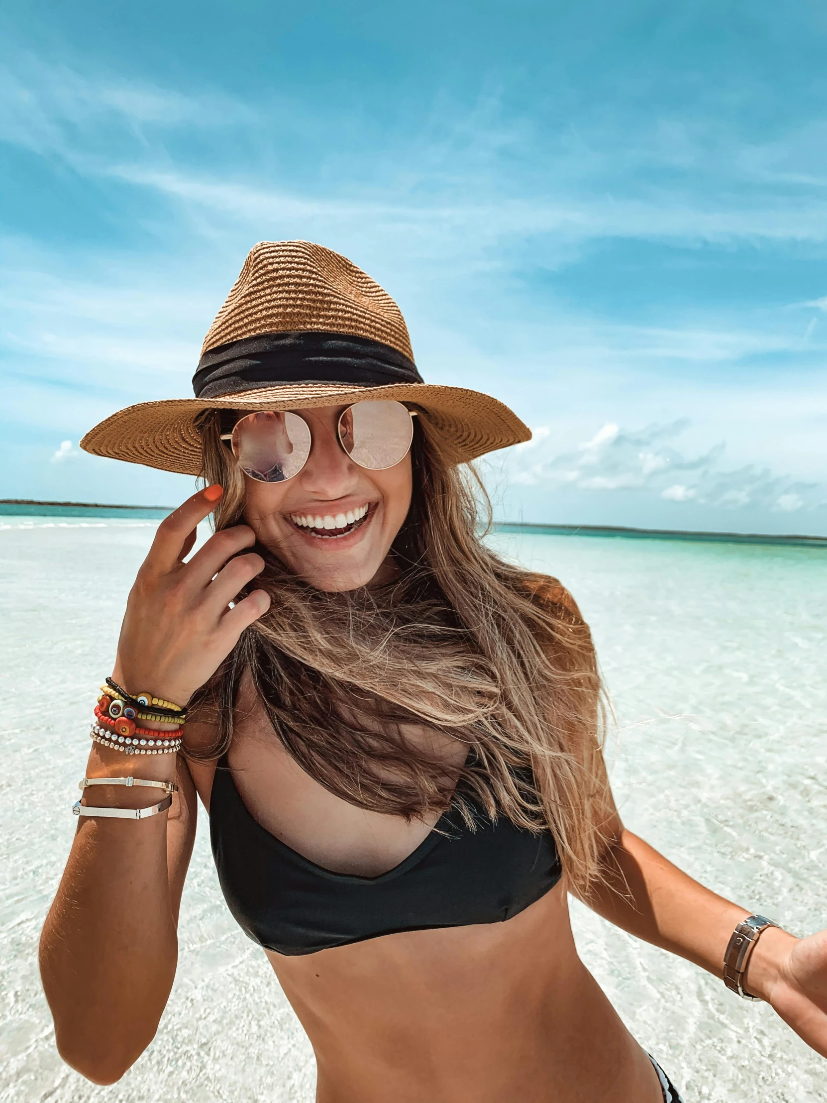
<svg viewBox="0 0 827 1103"><path fill-rule="evenodd" d="M265 591L254 590L230 608L264 567L245 553L256 539L323 590L355 589L393 571L390 545L410 503L410 459L377 472L354 464L336 440L340 411L301 410L313 433L303 470L282 483L248 480L246 524L215 534L187 563L195 527L221 488L193 495L161 523L127 603L114 667L119 683L190 699L269 607ZM368 520L341 539L291 521L365 504ZM433 826L357 808L324 790L273 739L246 684L236 720L229 765L247 807L319 865L376 876ZM210 735L187 724L191 745ZM447 769L464 757L464 747L438 732L406 735L443 753ZM214 765L128 759L94 745L86 773L174 779L180 786L170 812L151 820L80 820L43 929L41 972L58 1050L89 1080L109 1084L150 1043L170 994L196 805L198 797L210 805ZM154 803L148 792L101 786L89 803L137 807ZM681 872L616 814L611 826L605 858L614 872L589 906L720 976L745 909ZM313 1043L318 1103L660 1103L651 1062L577 955L562 882L503 923L267 955ZM798 940L767 930L747 987L827 1056L826 931Z"/></svg>

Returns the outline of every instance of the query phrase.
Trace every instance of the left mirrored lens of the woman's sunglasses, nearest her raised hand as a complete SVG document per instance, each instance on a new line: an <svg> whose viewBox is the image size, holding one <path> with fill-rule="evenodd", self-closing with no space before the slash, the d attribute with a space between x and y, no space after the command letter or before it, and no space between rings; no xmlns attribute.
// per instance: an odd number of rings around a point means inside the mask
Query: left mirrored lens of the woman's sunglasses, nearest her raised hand
<svg viewBox="0 0 827 1103"><path fill-rule="evenodd" d="M250 479L283 482L304 467L310 456L310 429L298 414L257 410L236 424L233 454Z"/></svg>

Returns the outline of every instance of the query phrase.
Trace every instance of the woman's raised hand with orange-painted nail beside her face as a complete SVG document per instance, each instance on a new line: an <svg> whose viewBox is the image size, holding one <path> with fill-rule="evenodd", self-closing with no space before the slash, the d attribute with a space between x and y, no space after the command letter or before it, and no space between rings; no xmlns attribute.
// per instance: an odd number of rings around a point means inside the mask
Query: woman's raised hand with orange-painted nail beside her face
<svg viewBox="0 0 827 1103"><path fill-rule="evenodd" d="M221 486L194 494L158 526L129 593L114 677L129 693L185 705L215 673L241 632L270 606L265 590L229 603L265 566L247 525L212 536L189 563L195 531L215 508Z"/></svg>

